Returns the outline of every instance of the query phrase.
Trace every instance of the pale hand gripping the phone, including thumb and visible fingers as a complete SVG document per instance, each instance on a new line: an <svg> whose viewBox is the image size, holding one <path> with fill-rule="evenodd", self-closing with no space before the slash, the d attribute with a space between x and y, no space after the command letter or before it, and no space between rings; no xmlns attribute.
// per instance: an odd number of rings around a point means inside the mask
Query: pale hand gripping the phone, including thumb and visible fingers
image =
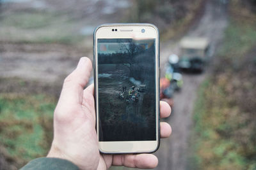
<svg viewBox="0 0 256 170"><path fill-rule="evenodd" d="M93 85L83 89L92 71L87 57L79 60L77 68L65 78L60 99L54 111L54 139L47 157L67 159L80 169L108 169L111 166L154 168L157 157L152 154L100 154L95 130ZM160 102L160 117L168 117L170 106ZM170 136L172 129L160 124L161 138Z"/></svg>

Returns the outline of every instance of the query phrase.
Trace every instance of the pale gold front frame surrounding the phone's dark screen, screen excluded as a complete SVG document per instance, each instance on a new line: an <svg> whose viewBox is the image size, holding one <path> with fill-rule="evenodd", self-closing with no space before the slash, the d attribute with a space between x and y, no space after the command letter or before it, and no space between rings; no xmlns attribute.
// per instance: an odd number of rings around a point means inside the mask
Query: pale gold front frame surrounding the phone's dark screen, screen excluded
<svg viewBox="0 0 256 170"><path fill-rule="evenodd" d="M112 31L118 29L118 31ZM131 31L132 29L132 31ZM145 29L145 32L141 32ZM129 30L129 31L120 31ZM96 129L99 131L99 98L98 98L98 67L97 67L97 39L99 38L155 38L156 57L156 141L99 141L99 150L102 153L152 153L156 152L160 143L159 127L159 31L152 24L102 24L93 33L93 67L95 83L95 110Z"/></svg>

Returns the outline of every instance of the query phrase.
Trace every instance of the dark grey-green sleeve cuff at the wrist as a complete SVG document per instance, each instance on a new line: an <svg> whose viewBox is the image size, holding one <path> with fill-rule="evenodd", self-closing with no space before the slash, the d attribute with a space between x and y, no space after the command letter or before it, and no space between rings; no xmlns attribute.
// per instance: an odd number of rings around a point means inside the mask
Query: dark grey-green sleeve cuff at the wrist
<svg viewBox="0 0 256 170"><path fill-rule="evenodd" d="M45 170L45 169L68 169L68 170L79 170L79 168L73 164L72 162L69 162L65 159L58 159L58 158L37 158L34 160L31 160L26 164L26 166L22 167L20 170Z"/></svg>

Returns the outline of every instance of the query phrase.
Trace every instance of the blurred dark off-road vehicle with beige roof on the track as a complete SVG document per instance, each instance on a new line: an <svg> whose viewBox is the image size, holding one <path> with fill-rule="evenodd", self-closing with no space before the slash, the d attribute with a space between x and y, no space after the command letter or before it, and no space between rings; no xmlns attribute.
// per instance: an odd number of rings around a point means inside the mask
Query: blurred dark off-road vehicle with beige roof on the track
<svg viewBox="0 0 256 170"><path fill-rule="evenodd" d="M209 53L207 38L183 38L180 41L179 68L190 73L202 73Z"/></svg>

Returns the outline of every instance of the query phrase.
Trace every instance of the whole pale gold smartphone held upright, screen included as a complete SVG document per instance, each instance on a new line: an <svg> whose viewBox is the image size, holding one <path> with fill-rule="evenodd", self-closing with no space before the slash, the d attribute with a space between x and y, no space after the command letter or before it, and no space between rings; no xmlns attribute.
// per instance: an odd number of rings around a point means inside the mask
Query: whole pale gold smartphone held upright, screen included
<svg viewBox="0 0 256 170"><path fill-rule="evenodd" d="M104 24L93 38L96 128L102 153L159 148L159 32Z"/></svg>

